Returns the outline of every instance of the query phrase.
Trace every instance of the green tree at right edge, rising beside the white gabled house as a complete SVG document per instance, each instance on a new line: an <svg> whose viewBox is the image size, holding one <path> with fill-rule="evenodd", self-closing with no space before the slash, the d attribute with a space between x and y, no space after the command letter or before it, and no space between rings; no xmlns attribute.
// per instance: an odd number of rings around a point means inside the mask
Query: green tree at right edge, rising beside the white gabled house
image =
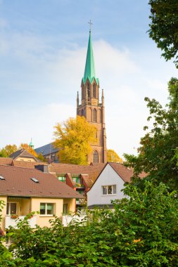
<svg viewBox="0 0 178 267"><path fill-rule="evenodd" d="M155 99L145 98L150 109L148 121L153 119L153 126L141 138L139 154L125 155L127 166L134 168L135 176L142 171L155 183L166 183L170 190L178 188L177 159L174 154L178 148L178 79L172 78L168 84L170 103L166 109Z"/></svg>

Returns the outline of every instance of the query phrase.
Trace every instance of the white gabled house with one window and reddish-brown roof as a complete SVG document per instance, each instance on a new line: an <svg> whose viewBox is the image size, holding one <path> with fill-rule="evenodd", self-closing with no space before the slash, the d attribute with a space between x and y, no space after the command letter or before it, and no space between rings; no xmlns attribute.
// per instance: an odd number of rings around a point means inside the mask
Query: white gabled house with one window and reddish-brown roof
<svg viewBox="0 0 178 267"><path fill-rule="evenodd" d="M112 208L112 200L120 200L125 197L122 189L125 183L131 181L133 174L133 169L129 169L121 163L108 162L87 193L88 208ZM144 176L146 174L140 175L141 178Z"/></svg>

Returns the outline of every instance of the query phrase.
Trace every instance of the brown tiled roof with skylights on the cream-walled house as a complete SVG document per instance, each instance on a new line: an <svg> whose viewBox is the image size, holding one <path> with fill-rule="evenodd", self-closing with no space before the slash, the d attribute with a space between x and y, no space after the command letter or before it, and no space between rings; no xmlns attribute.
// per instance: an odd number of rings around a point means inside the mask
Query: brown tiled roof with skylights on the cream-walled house
<svg viewBox="0 0 178 267"><path fill-rule="evenodd" d="M37 169L0 165L0 195L21 197L82 198L82 195L49 173ZM35 183L31 178L36 178Z"/></svg>

